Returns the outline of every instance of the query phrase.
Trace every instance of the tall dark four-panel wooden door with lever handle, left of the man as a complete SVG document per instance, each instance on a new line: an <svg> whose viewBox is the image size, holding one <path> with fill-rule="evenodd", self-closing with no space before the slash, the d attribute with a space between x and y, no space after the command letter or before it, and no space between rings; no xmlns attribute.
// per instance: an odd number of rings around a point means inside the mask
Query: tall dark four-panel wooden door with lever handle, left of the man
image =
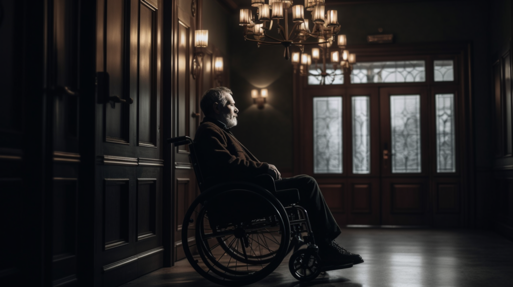
<svg viewBox="0 0 513 287"><path fill-rule="evenodd" d="M98 1L95 283L163 266L162 4Z"/></svg>

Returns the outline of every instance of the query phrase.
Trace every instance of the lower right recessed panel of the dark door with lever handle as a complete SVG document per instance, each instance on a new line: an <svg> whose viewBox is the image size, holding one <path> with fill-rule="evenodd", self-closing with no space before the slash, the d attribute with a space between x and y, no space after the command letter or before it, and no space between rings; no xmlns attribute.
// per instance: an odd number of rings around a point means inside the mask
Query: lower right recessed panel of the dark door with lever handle
<svg viewBox="0 0 513 287"><path fill-rule="evenodd" d="M155 234L156 182L139 180L137 185L137 238L143 239Z"/></svg>

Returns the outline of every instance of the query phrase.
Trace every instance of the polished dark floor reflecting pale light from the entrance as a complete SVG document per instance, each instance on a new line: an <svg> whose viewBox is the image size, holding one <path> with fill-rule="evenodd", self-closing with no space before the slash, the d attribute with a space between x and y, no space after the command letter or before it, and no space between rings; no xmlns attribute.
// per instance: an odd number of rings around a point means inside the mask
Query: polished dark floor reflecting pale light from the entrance
<svg viewBox="0 0 513 287"><path fill-rule="evenodd" d="M305 283L290 275L287 257L250 286L513 286L513 242L491 231L351 228L337 242L365 262ZM218 285L181 260L123 286Z"/></svg>

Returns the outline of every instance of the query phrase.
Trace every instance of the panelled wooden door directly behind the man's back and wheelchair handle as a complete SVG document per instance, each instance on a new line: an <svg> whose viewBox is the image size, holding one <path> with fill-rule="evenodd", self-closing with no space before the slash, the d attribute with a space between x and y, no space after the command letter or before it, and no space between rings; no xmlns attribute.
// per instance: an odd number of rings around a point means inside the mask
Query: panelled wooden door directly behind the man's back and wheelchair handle
<svg viewBox="0 0 513 287"><path fill-rule="evenodd" d="M196 88L200 75L192 75L194 56L194 31L196 30L196 2L180 0L175 2L174 22L174 78L173 89L173 137L194 138L200 123L200 111ZM182 249L182 221L187 208L199 190L192 165L189 161L187 145L173 148L173 189L174 189L174 261L185 258ZM192 234L191 234L192 236Z"/></svg>

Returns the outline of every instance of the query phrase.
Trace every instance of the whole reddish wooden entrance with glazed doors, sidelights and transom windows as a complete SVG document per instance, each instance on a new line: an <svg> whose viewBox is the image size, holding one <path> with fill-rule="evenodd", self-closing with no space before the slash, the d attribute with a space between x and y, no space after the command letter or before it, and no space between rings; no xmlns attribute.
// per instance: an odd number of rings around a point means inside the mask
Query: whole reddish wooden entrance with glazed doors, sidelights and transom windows
<svg viewBox="0 0 513 287"><path fill-rule="evenodd" d="M339 225L461 224L460 55L362 57L335 84L299 78L299 172L318 181Z"/></svg>

